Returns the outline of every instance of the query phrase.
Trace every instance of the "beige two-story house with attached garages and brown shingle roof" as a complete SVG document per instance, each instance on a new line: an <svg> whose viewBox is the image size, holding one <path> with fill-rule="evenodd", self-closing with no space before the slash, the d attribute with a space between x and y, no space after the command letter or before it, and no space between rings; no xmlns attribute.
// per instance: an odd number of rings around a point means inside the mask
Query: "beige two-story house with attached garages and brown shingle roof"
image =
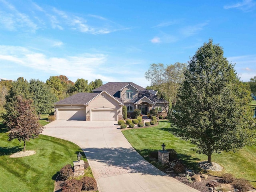
<svg viewBox="0 0 256 192"><path fill-rule="evenodd" d="M128 117L134 109L147 114L157 108L166 116L166 102L149 90L132 82L109 82L93 90L93 93L78 93L55 103L56 119L108 121L122 119L122 106L127 107Z"/></svg>

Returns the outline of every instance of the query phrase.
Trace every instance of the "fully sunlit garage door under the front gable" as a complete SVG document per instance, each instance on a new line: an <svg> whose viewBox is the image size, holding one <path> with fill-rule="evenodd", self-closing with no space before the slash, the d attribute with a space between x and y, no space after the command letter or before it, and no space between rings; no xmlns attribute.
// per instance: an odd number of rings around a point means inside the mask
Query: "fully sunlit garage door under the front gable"
<svg viewBox="0 0 256 192"><path fill-rule="evenodd" d="M92 110L92 121L116 121L116 110Z"/></svg>

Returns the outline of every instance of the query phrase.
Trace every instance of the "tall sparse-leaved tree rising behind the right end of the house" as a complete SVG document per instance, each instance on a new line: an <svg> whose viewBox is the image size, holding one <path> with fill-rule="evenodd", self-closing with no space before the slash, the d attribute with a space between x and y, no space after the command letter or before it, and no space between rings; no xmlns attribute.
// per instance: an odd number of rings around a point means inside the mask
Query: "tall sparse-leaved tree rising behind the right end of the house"
<svg viewBox="0 0 256 192"><path fill-rule="evenodd" d="M164 66L164 64L151 64L145 78L149 80L150 87L158 90L159 96L167 100L165 109L168 116L172 113L172 108L176 103L177 92L184 80L185 63L176 62L175 64Z"/></svg>

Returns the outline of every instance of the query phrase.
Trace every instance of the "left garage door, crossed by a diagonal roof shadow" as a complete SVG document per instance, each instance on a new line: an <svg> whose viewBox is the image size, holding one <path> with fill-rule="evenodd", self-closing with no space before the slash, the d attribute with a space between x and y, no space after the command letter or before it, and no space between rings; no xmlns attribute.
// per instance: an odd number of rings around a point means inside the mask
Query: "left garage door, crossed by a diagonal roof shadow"
<svg viewBox="0 0 256 192"><path fill-rule="evenodd" d="M85 120L85 109L59 109L58 119Z"/></svg>

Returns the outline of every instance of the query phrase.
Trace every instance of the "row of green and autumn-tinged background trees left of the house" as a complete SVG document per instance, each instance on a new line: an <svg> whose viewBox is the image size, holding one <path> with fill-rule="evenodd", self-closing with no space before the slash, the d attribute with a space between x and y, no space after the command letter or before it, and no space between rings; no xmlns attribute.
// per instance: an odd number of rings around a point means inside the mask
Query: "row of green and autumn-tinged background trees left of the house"
<svg viewBox="0 0 256 192"><path fill-rule="evenodd" d="M93 89L101 85L102 80L100 79L88 83L88 80L78 78L76 82L72 82L64 75L50 76L46 82L36 79L27 81L23 77L19 77L15 81L1 80L0 113L4 114L6 110L12 111L12 102L17 100L18 96L32 100L37 114L50 113L54 102L78 92L92 92Z"/></svg>

